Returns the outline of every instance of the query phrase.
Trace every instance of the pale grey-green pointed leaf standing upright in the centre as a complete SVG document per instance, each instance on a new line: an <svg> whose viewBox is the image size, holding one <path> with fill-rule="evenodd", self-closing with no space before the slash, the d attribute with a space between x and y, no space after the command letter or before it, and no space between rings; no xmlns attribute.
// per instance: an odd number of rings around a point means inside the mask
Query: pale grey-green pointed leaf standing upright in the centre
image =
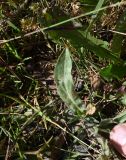
<svg viewBox="0 0 126 160"><path fill-rule="evenodd" d="M70 51L66 48L60 55L55 67L54 77L57 85L57 92L60 98L73 112L82 113L84 105L74 91L74 83L71 75L72 61Z"/></svg>

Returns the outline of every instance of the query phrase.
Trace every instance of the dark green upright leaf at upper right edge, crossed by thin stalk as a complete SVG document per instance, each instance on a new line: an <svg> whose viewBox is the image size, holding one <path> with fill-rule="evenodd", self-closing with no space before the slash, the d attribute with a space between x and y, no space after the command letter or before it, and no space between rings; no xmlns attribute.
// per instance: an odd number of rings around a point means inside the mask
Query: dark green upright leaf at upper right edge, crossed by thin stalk
<svg viewBox="0 0 126 160"><path fill-rule="evenodd" d="M123 33L126 32L126 10L123 12L121 17L119 18L115 30ZM123 39L124 39L123 35L114 33L113 40L112 40L112 52L115 53L118 57L120 57L120 54L123 52L122 51Z"/></svg>

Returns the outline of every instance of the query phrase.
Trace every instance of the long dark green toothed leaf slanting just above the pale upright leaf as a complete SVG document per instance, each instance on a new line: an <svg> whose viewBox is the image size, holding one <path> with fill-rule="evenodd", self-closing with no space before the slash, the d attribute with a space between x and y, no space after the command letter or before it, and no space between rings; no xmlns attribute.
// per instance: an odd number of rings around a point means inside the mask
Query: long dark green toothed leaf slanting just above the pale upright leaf
<svg viewBox="0 0 126 160"><path fill-rule="evenodd" d="M54 41L60 43L61 38L69 40L69 42L77 50L81 47L88 49L89 51L95 53L98 57L110 59L112 61L119 62L119 59L111 53L107 47L107 42L99 40L91 35L86 35L84 31L71 30L71 31L48 31L50 36Z"/></svg>

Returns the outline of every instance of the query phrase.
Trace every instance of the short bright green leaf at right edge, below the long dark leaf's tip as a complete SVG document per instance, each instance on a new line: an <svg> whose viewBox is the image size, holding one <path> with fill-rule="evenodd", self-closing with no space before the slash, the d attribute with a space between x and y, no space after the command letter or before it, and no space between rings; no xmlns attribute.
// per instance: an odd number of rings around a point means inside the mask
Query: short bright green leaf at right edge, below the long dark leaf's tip
<svg viewBox="0 0 126 160"><path fill-rule="evenodd" d="M102 69L100 74L107 80L110 80L112 78L120 80L121 78L126 76L126 66L123 64L111 64Z"/></svg>

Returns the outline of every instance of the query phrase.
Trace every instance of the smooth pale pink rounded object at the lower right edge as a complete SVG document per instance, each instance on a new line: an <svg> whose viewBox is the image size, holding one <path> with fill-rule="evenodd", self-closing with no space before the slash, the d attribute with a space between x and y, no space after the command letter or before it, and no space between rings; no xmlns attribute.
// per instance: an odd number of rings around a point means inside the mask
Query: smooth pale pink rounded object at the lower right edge
<svg viewBox="0 0 126 160"><path fill-rule="evenodd" d="M126 123L118 124L111 130L110 142L126 158Z"/></svg>

